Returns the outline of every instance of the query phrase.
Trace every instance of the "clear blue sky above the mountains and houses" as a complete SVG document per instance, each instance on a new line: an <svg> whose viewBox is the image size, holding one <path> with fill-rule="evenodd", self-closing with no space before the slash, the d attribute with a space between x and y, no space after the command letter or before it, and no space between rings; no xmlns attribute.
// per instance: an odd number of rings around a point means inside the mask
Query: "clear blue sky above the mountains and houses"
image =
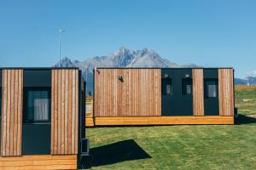
<svg viewBox="0 0 256 170"><path fill-rule="evenodd" d="M256 1L0 1L0 66L51 66L120 46L152 48L177 64L256 70Z"/></svg>

